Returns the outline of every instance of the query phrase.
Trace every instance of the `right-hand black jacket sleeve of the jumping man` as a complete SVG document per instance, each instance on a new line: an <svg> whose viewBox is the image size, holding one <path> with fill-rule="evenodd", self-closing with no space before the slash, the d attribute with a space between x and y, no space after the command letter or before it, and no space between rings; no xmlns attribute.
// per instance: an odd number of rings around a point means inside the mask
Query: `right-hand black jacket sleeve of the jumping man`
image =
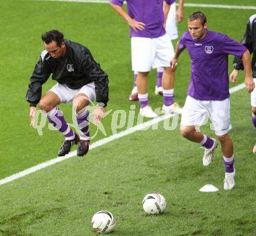
<svg viewBox="0 0 256 236"><path fill-rule="evenodd" d="M106 106L108 102L108 74L101 69L99 63L95 62L88 49L84 52L82 60L81 65L85 73L94 81L96 101L104 103L102 106Z"/></svg>

